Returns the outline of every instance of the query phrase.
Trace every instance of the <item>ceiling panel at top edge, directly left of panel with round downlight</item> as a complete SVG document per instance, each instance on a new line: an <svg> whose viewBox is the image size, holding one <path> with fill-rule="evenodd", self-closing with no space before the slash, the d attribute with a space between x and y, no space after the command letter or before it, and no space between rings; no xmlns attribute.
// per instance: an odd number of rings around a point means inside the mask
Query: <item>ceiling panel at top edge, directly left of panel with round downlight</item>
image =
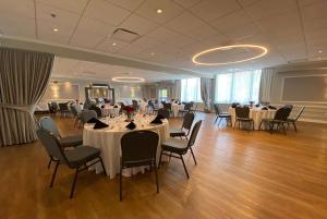
<svg viewBox="0 0 327 219"><path fill-rule="evenodd" d="M123 22L123 20L130 14L130 11L116 7L105 0L90 0L85 11L86 16L97 19L112 25L121 24L121 22Z"/></svg>

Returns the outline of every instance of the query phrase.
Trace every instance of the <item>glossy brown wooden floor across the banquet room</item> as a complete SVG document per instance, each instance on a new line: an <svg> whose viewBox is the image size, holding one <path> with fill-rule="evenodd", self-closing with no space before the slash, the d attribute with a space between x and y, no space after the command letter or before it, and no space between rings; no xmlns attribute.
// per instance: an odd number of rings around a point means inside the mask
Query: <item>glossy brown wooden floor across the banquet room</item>
<svg viewBox="0 0 327 219"><path fill-rule="evenodd" d="M213 124L214 114L198 113L204 123L187 154L186 180L180 160L159 170L160 193L153 172L118 179L84 171L75 197L69 198L73 170L60 167L55 186L41 145L0 149L0 218L327 218L327 125L299 123L288 135L233 131ZM62 135L78 133L72 119L56 118ZM172 120L172 125L180 120Z"/></svg>

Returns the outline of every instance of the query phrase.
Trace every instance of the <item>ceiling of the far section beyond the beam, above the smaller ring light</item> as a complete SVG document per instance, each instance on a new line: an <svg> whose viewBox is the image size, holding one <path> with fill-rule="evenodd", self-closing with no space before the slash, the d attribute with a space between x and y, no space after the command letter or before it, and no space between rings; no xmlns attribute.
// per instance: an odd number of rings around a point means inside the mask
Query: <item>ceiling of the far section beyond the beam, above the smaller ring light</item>
<svg viewBox="0 0 327 219"><path fill-rule="evenodd" d="M59 57L55 59L51 76L55 78L83 78L107 82L112 82L112 77L129 76L145 78L145 83L190 77L190 75L185 74L172 75L170 73L146 71L136 68L111 65Z"/></svg>

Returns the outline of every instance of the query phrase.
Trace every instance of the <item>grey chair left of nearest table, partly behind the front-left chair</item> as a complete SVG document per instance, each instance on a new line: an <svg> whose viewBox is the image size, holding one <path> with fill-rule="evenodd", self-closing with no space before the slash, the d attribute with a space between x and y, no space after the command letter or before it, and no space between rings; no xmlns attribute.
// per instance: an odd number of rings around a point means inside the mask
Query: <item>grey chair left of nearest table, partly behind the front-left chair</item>
<svg viewBox="0 0 327 219"><path fill-rule="evenodd" d="M40 118L38 121L38 125L41 130L48 131L49 133L53 134L64 149L69 147L77 147L83 144L82 135L71 135L71 136L62 137L59 130L57 129L55 121L50 117ZM52 161L53 160L50 157L48 169L50 168Z"/></svg>

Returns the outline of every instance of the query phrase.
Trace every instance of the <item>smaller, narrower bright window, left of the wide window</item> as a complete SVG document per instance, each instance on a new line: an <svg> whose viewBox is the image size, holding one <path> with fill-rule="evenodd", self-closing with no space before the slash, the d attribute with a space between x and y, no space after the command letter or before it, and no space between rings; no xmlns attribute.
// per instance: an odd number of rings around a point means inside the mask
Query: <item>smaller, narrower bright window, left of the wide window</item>
<svg viewBox="0 0 327 219"><path fill-rule="evenodd" d="M181 100L202 102L199 77L181 80Z"/></svg>

